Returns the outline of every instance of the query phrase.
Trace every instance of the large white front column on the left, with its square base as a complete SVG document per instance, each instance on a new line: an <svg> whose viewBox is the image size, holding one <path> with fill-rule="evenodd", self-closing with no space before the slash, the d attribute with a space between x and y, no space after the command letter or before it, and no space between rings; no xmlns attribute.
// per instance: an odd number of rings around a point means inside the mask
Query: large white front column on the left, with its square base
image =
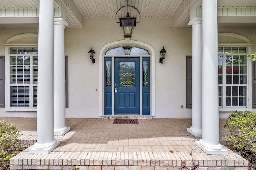
<svg viewBox="0 0 256 170"><path fill-rule="evenodd" d="M53 136L53 4L39 2L37 143L29 150L36 154L48 154L60 144Z"/></svg>

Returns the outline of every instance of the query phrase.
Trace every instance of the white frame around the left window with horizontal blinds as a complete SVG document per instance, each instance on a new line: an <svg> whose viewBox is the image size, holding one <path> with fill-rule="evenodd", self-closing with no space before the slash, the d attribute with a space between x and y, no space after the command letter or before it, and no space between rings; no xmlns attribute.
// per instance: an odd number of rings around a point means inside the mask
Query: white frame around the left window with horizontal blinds
<svg viewBox="0 0 256 170"><path fill-rule="evenodd" d="M6 56L6 61L5 61L5 68L6 68L6 72L5 72L5 78L6 78L6 82L5 82L5 94L8 94L5 96L5 110L6 111L36 111L36 107L33 106L33 81L30 81L29 87L30 87L30 97L29 97L29 106L22 106L22 107L15 107L15 106L10 106L10 56L11 55L16 55L16 54L10 54L10 48L38 48L38 45L8 45L5 47L5 56ZM35 54L25 54L25 55L30 55L31 57ZM38 55L38 54L36 54ZM33 67L31 67L33 65L33 60L32 58L30 58L30 80L31 78L33 79ZM32 71L31 71L32 69Z"/></svg>

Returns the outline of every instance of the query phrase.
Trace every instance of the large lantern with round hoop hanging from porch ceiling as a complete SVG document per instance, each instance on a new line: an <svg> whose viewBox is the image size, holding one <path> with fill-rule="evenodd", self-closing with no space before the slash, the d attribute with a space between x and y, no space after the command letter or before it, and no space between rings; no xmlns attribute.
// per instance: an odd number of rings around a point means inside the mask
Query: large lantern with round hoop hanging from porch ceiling
<svg viewBox="0 0 256 170"><path fill-rule="evenodd" d="M140 15L140 12L137 8L135 8L134 6L128 5L128 0L127 0L127 5L122 6L121 8L119 8L119 10L126 6L136 9ZM117 15L118 11L116 12L116 15ZM123 32L124 32L124 38L131 38L133 27L136 26L136 17L131 17L129 12L127 12L125 17L120 17L119 22L118 21L116 21L116 22L120 23L120 27L122 27ZM138 22L140 22L140 21L138 21Z"/></svg>

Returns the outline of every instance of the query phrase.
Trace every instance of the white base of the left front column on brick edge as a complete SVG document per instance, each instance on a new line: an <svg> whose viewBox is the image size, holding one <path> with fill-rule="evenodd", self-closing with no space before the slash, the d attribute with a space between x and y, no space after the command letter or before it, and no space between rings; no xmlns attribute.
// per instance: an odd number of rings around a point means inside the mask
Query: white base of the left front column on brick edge
<svg viewBox="0 0 256 170"><path fill-rule="evenodd" d="M56 140L55 138L50 143L46 143L46 144L35 143L34 147L31 148L30 150L28 150L28 153L31 153L31 154L49 154L58 145L60 145L60 140Z"/></svg>

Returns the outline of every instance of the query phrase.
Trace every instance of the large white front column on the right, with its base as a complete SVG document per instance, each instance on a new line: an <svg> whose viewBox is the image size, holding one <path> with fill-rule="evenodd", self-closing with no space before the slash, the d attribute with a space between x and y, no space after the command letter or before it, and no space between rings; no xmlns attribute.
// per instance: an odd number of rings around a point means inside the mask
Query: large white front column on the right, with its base
<svg viewBox="0 0 256 170"><path fill-rule="evenodd" d="M202 139L206 154L228 154L219 139L217 0L203 0Z"/></svg>

